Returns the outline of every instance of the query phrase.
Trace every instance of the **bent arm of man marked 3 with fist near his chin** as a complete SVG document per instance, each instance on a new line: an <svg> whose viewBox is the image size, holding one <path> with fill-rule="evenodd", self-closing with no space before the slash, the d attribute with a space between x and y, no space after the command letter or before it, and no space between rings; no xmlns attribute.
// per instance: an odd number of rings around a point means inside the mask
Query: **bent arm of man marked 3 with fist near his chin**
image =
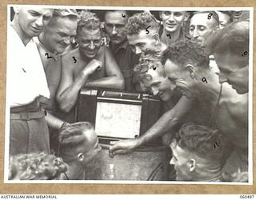
<svg viewBox="0 0 256 200"><path fill-rule="evenodd" d="M90 74L93 74L101 66L102 62L93 59L73 80L72 67L66 66L62 60L62 78L56 96L61 110L69 112L74 107L78 99L78 91L86 83Z"/></svg>

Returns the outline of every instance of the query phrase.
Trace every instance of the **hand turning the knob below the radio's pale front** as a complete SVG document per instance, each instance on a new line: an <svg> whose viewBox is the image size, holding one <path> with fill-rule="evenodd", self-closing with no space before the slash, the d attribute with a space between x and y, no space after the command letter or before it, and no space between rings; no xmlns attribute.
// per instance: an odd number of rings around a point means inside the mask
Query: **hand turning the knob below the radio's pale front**
<svg viewBox="0 0 256 200"><path fill-rule="evenodd" d="M115 154L127 154L134 151L139 146L138 139L126 139L122 141L111 141L110 142L110 156L114 157Z"/></svg>

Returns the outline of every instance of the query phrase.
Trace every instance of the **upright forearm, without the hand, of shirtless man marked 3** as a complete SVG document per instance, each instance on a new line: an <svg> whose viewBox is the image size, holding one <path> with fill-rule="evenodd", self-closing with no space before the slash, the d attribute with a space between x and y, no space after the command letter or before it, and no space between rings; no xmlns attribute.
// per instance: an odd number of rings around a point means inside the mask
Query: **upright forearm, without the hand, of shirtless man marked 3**
<svg viewBox="0 0 256 200"><path fill-rule="evenodd" d="M78 78L58 96L57 100L61 110L69 112L74 107L78 100L78 91L84 86L87 78L88 75L79 74Z"/></svg>

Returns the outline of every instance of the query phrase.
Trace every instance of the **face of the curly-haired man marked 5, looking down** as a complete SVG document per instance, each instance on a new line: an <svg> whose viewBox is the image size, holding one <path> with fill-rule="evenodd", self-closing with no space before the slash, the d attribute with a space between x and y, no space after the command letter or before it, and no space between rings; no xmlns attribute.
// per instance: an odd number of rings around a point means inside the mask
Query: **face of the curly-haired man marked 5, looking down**
<svg viewBox="0 0 256 200"><path fill-rule="evenodd" d="M142 30L138 34L128 34L127 39L135 54L142 54L146 50L155 50L159 42L153 34L146 34L146 30Z"/></svg>

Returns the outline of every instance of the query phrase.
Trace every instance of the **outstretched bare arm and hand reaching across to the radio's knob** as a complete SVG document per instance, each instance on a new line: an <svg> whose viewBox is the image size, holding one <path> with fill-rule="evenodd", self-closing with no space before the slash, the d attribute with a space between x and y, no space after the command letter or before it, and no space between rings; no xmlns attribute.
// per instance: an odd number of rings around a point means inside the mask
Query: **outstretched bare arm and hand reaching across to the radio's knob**
<svg viewBox="0 0 256 200"><path fill-rule="evenodd" d="M158 122L156 122L140 138L111 142L114 146L110 146L110 155L129 153L138 146L149 142L151 139L158 138L163 134L166 134L167 131L172 130L178 122L180 122L182 117L188 113L193 102L194 100L187 99L182 96L174 108L163 114L162 117L158 119Z"/></svg>

